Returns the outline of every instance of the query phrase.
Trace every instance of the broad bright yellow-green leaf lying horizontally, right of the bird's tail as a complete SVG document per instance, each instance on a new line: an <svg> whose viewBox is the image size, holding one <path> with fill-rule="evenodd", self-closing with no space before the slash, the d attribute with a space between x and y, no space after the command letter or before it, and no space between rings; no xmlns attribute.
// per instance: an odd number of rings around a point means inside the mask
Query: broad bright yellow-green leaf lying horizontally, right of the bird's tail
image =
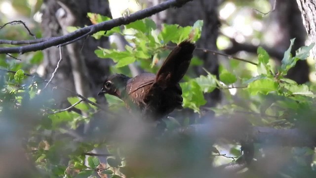
<svg viewBox="0 0 316 178"><path fill-rule="evenodd" d="M258 93L268 94L271 91L277 90L277 83L270 78L259 79L250 83L247 89L252 95L256 95Z"/></svg>

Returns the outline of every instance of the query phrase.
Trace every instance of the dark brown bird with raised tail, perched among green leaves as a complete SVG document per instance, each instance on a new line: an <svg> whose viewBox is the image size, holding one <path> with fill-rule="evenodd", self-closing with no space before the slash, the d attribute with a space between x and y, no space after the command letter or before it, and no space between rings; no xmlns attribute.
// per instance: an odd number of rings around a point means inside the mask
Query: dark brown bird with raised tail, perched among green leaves
<svg viewBox="0 0 316 178"><path fill-rule="evenodd" d="M182 89L179 85L188 70L195 45L181 42L168 55L157 75L142 73L134 78L123 74L108 77L101 91L115 95L130 110L137 110L142 117L159 120L174 109L182 108Z"/></svg>

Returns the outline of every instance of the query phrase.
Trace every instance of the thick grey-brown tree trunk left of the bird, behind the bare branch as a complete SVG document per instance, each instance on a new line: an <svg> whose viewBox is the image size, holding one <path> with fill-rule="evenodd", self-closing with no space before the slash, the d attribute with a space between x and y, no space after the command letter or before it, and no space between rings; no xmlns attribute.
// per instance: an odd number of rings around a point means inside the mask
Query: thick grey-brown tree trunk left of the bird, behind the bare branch
<svg viewBox="0 0 316 178"><path fill-rule="evenodd" d="M84 25L91 25L86 16L87 12L111 17L107 0L44 0L43 7L41 22L43 37L65 35L68 33L68 26L84 27ZM104 76L109 74L108 61L100 59L94 54L97 46L108 48L108 38L95 40L88 37L87 39L63 46L63 60L53 82L86 97L97 97L97 92L102 86ZM50 47L44 50L43 67L45 78L50 78L59 58L59 49L57 47ZM56 102L65 102L65 98L68 96L70 96L70 93L58 90ZM100 100L101 97L98 99Z"/></svg>

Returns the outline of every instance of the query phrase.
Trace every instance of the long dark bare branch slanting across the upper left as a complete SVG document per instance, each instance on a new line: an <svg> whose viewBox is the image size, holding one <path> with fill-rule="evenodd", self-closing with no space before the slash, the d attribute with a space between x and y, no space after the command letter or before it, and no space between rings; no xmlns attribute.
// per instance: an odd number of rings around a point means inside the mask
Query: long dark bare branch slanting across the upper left
<svg viewBox="0 0 316 178"><path fill-rule="evenodd" d="M154 15L170 7L182 6L183 4L189 1L192 1L192 0L168 0L158 5L155 5L153 7L149 7L149 8L140 10L138 12L135 12L129 15L128 17L120 17L120 18L108 20L105 22L101 22L99 24L83 27L72 33L69 33L67 35L60 36L60 37L36 39L36 40L31 40L31 41L0 41L0 44L17 44L17 45L28 44L25 46L18 46L18 47L0 47L0 54L4 54L4 53L23 54L25 52L43 50L51 46L67 45L70 43L74 43L75 41L78 41L96 32L107 31L120 25L126 25L136 20Z"/></svg>

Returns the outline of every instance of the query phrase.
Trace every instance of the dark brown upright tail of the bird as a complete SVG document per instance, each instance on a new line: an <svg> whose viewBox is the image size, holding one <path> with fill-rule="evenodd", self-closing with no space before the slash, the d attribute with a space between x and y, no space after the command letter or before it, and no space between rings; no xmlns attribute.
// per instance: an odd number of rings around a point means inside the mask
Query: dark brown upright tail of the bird
<svg viewBox="0 0 316 178"><path fill-rule="evenodd" d="M163 62L156 75L156 83L162 88L175 85L187 72L195 45L183 41L177 45Z"/></svg>

